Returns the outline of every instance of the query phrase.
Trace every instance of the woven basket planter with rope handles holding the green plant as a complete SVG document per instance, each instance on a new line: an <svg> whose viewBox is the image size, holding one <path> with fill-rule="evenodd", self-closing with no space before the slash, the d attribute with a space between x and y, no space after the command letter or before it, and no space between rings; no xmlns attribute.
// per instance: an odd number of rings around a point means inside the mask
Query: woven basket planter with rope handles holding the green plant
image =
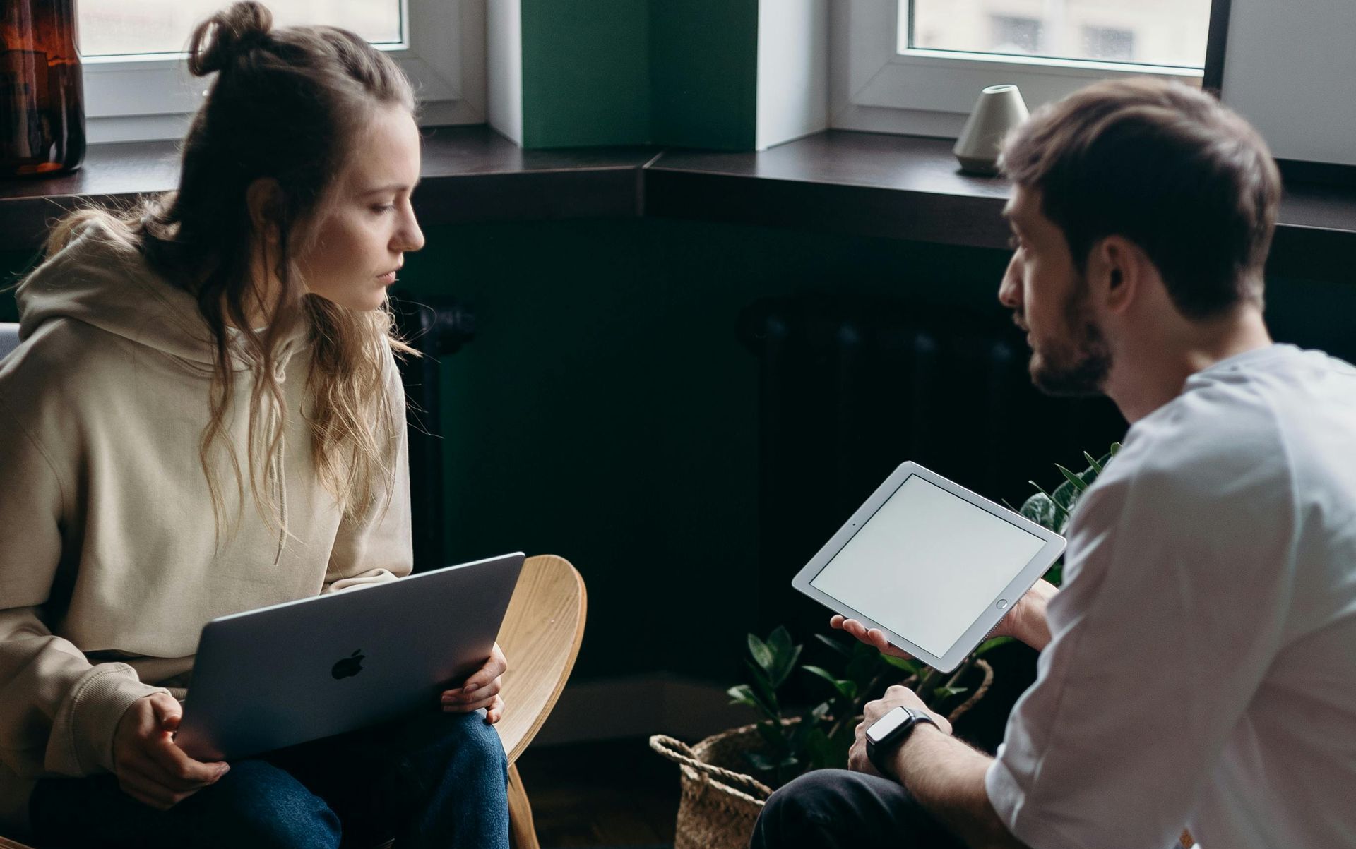
<svg viewBox="0 0 1356 849"><path fill-rule="evenodd" d="M975 661L975 668L983 672L983 682L948 715L951 722L974 707L994 682L994 668L986 661ZM757 723L721 731L694 746L663 734L650 738L650 747L678 764L682 772L674 849L749 846L754 822L773 791L740 770L746 764L743 753L761 750L762 746Z"/></svg>

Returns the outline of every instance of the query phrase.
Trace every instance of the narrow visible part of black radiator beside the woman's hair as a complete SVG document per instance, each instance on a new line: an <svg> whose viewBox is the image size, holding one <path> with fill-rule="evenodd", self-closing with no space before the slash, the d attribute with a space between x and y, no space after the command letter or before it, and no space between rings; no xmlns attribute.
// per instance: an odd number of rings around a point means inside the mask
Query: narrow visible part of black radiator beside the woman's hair
<svg viewBox="0 0 1356 849"><path fill-rule="evenodd" d="M391 307L401 337L422 356L400 362L410 433L410 504L415 571L443 562L442 416L438 357L475 337L475 317L454 298L393 294Z"/></svg>

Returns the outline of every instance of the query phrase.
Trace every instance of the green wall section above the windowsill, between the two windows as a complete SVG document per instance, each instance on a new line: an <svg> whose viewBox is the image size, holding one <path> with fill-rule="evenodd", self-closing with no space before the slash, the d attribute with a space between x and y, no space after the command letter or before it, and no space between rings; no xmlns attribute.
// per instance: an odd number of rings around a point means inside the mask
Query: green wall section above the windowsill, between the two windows
<svg viewBox="0 0 1356 849"><path fill-rule="evenodd" d="M753 149L757 0L522 0L523 146Z"/></svg>

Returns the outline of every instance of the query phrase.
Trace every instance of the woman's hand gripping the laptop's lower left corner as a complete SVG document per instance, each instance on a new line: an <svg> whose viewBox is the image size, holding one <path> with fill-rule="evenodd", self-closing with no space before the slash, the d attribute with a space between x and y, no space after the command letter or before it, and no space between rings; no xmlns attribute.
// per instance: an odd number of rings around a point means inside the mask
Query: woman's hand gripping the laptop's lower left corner
<svg viewBox="0 0 1356 849"><path fill-rule="evenodd" d="M175 745L183 708L168 693L151 693L132 703L113 734L113 770L118 787L137 802L168 811L203 787L216 784L231 766L225 761L195 761Z"/></svg>

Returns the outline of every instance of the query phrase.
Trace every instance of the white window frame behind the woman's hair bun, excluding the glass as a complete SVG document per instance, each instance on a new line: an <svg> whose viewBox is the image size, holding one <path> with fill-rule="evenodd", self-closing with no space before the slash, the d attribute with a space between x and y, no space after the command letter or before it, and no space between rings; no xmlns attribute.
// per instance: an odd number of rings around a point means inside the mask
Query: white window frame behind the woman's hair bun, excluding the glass
<svg viewBox="0 0 1356 849"><path fill-rule="evenodd" d="M420 125L485 121L485 0L404 0L404 42L380 45L415 84ZM91 142L180 138L207 80L184 53L81 61Z"/></svg>

